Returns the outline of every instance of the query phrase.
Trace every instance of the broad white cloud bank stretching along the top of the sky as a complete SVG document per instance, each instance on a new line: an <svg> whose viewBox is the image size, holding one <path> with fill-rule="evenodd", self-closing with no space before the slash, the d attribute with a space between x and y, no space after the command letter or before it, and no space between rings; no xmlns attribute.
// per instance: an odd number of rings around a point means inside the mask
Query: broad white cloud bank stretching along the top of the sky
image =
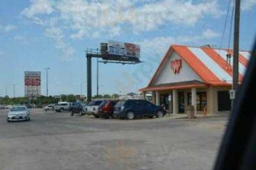
<svg viewBox="0 0 256 170"><path fill-rule="evenodd" d="M223 11L217 0L31 0L21 14L40 25L65 27L73 31L70 37L82 39L119 36L127 26L134 33L167 24L195 26L206 15L219 17ZM49 18L40 14L49 14Z"/></svg>

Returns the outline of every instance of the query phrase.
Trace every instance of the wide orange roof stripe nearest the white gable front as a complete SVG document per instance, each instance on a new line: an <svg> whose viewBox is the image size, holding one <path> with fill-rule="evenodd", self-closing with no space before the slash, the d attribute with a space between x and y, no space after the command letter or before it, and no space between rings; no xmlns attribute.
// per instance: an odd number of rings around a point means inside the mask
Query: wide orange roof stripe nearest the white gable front
<svg viewBox="0 0 256 170"><path fill-rule="evenodd" d="M189 50L189 48L181 46L172 46L172 48L175 49L177 54L179 54L205 82L210 84L222 82Z"/></svg>

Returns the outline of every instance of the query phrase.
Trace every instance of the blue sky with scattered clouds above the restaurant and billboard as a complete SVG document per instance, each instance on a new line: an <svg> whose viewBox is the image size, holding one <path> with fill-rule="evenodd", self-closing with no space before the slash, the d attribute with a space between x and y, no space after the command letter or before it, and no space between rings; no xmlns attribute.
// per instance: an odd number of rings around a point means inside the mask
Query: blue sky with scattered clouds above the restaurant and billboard
<svg viewBox="0 0 256 170"><path fill-rule="evenodd" d="M154 74L172 44L220 47L228 0L2 0L0 96L24 95L24 71L49 70L49 94L80 94L86 80L86 48L115 40L141 45L139 65L100 64L100 94L135 92ZM241 3L241 49L250 50L256 0ZM223 48L228 47L230 18ZM230 44L232 47L232 43ZM93 61L93 94L96 62ZM86 93L84 83L83 93Z"/></svg>

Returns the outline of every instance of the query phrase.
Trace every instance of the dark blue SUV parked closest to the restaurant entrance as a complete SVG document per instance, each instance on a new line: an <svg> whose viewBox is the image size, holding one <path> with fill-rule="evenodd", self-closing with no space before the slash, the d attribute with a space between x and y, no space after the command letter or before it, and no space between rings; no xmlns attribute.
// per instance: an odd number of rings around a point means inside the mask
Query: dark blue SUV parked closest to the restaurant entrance
<svg viewBox="0 0 256 170"><path fill-rule="evenodd" d="M114 106L113 116L134 119L135 117L162 117L166 115L166 110L159 105L154 105L148 100L128 99L119 101Z"/></svg>

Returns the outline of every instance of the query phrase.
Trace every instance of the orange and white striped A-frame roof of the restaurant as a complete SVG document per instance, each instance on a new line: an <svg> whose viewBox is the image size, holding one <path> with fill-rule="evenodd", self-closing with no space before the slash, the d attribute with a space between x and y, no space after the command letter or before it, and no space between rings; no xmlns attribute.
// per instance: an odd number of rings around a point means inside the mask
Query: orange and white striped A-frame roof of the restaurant
<svg viewBox="0 0 256 170"><path fill-rule="evenodd" d="M176 52L206 84L213 86L229 86L232 83L233 50L172 45L166 53L166 56L162 59L157 71L155 71L154 77L149 82L148 87L153 85L154 78L158 75L157 73L161 70L162 65L170 56L169 52ZM231 54L230 65L228 65L226 61L227 54ZM247 70L250 55L251 53L248 51L240 51L239 53L240 82Z"/></svg>

